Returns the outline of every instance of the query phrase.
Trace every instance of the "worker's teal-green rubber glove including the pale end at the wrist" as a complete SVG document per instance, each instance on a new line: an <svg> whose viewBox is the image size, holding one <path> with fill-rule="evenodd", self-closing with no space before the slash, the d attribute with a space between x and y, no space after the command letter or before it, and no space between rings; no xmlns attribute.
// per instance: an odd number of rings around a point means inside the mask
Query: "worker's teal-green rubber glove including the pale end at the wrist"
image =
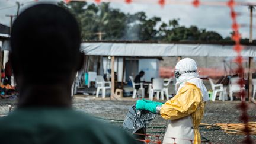
<svg viewBox="0 0 256 144"><path fill-rule="evenodd" d="M136 110L148 110L152 113L157 113L157 108L161 108L162 103L156 101L148 101L148 100L137 100L136 102ZM159 113L159 112L158 112Z"/></svg>

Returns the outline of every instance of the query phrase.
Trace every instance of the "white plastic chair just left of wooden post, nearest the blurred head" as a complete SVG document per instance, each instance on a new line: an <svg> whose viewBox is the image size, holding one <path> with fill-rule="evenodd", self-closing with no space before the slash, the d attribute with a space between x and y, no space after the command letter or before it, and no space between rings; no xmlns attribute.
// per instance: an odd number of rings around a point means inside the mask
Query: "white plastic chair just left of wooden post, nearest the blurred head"
<svg viewBox="0 0 256 144"><path fill-rule="evenodd" d="M105 98L105 92L107 89L111 88L111 82L106 82L101 75L97 75L96 78L96 86L97 86L97 91L96 91L96 97L100 94L100 90L102 91L102 97Z"/></svg>

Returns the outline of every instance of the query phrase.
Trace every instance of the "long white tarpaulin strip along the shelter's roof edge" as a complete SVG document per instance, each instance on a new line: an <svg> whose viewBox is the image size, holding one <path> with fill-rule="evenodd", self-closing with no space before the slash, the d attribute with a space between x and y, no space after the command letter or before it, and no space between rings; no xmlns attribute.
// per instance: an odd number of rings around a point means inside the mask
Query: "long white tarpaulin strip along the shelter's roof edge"
<svg viewBox="0 0 256 144"><path fill-rule="evenodd" d="M256 57L256 46L243 47L242 56ZM82 43L81 52L95 56L237 56L232 45L220 44Z"/></svg>

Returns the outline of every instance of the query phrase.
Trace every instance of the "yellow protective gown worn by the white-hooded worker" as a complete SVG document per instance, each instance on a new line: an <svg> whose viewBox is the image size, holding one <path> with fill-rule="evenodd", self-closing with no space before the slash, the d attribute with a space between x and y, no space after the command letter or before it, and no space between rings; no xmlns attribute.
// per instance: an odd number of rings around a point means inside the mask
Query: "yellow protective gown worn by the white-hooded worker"
<svg viewBox="0 0 256 144"><path fill-rule="evenodd" d="M182 120L184 117L189 117L191 121L192 129L183 129L183 126L180 126L184 136L186 133L191 133L191 130L194 131L194 140L193 143L201 143L201 137L199 133L199 124L203 118L204 113L204 102L201 91L194 84L186 82L185 86L180 89L177 95L171 100L168 100L165 104L162 105L160 114L164 119L172 121ZM191 118L190 118L191 116ZM182 124L182 122L180 123ZM175 126L177 127L177 126ZM174 127L174 128L175 128ZM185 130L190 132L184 132ZM174 133L174 132L171 132ZM169 135L169 134L168 134ZM172 137L172 136L169 136ZM165 141L165 139L164 139ZM187 142L181 142L187 143ZM191 143L188 141L188 143Z"/></svg>

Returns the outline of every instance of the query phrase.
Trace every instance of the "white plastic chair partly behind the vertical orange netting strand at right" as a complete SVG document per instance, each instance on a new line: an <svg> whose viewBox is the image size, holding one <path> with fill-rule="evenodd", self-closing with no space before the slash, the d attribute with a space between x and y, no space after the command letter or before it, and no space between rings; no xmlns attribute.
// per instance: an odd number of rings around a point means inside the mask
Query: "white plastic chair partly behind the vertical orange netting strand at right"
<svg viewBox="0 0 256 144"><path fill-rule="evenodd" d="M238 93L245 89L245 85L244 87L241 88L240 85L238 84L239 79L240 79L239 77L234 77L234 78L231 78L230 80L229 97L231 98L231 101L233 101L233 93ZM244 101L242 100L242 97L241 97L241 101Z"/></svg>

